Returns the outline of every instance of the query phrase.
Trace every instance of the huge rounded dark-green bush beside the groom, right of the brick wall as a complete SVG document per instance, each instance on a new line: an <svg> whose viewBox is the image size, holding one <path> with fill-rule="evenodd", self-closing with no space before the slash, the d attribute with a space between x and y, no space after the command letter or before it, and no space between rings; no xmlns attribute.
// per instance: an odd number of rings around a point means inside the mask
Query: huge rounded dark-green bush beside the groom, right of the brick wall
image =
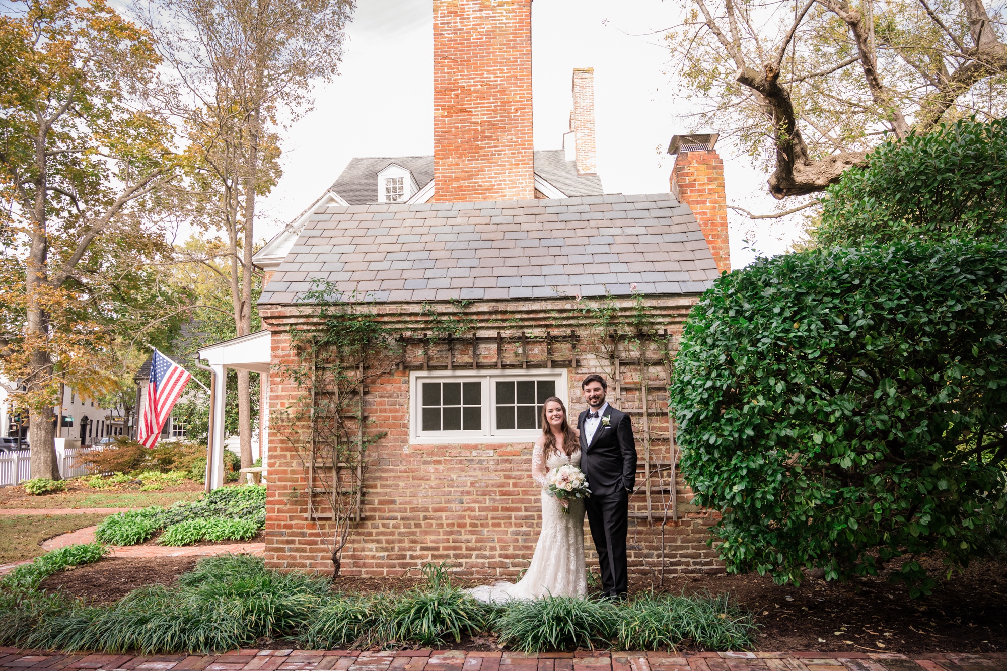
<svg viewBox="0 0 1007 671"><path fill-rule="evenodd" d="M1007 533L1007 246L814 250L721 277L671 403L682 472L732 571L870 573Z"/></svg>

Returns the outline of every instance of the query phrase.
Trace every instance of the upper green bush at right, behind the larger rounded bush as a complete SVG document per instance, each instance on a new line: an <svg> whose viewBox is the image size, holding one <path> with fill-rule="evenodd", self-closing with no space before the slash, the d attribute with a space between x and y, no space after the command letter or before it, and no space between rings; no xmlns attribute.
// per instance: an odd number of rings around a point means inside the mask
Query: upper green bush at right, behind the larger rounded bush
<svg viewBox="0 0 1007 671"><path fill-rule="evenodd" d="M829 188L823 246L1002 238L1007 226L1007 121L963 119L926 135L881 144L866 168Z"/></svg>

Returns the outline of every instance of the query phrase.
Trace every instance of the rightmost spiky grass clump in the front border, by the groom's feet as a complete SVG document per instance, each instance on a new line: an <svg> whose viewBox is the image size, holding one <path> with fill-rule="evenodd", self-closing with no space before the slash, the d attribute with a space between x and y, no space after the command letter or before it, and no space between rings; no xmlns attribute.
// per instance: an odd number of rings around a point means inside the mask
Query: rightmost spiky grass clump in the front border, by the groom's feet
<svg viewBox="0 0 1007 671"><path fill-rule="evenodd" d="M692 645L707 650L752 647L756 625L750 613L713 596L646 594L619 609L618 644L622 650L674 650Z"/></svg>

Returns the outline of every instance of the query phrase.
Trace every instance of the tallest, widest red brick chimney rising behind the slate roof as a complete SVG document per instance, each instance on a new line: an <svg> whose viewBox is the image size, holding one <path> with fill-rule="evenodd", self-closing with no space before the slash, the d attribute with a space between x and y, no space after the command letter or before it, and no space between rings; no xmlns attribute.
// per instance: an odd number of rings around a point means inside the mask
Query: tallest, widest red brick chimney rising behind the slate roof
<svg viewBox="0 0 1007 671"><path fill-rule="evenodd" d="M434 0L434 200L535 197L532 0Z"/></svg>

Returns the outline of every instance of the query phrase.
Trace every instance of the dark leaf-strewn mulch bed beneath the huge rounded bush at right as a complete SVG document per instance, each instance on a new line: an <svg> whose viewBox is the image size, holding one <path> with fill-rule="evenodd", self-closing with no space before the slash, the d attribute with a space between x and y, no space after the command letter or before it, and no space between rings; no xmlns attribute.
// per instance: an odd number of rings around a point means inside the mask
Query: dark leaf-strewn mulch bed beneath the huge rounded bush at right
<svg viewBox="0 0 1007 671"><path fill-rule="evenodd" d="M940 574L940 560L921 563ZM800 587L777 585L757 573L666 576L662 591L730 592L762 626L759 650L1007 650L1007 561L974 562L964 574L941 580L930 596L918 599L910 599L908 589L888 582L887 576L885 572L846 583L808 579ZM631 586L650 588L649 578L637 578Z"/></svg>

